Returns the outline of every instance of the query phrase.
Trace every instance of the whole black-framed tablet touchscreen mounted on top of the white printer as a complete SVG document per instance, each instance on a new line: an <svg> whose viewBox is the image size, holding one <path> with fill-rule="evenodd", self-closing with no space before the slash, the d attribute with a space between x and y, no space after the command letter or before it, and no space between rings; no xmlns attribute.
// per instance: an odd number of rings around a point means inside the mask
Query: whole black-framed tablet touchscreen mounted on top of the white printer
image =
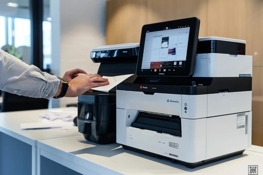
<svg viewBox="0 0 263 175"><path fill-rule="evenodd" d="M200 20L186 18L144 25L137 76L193 76Z"/></svg>

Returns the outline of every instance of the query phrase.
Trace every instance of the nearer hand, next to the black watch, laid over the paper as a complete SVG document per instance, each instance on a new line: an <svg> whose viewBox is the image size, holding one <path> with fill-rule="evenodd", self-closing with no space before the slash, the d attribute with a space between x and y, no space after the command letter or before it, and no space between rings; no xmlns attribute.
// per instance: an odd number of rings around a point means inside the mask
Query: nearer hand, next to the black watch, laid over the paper
<svg viewBox="0 0 263 175"><path fill-rule="evenodd" d="M85 92L92 92L93 87L106 86L110 84L107 78L102 78L98 74L78 74L74 75L71 81L69 81L68 91L65 97L78 97Z"/></svg>

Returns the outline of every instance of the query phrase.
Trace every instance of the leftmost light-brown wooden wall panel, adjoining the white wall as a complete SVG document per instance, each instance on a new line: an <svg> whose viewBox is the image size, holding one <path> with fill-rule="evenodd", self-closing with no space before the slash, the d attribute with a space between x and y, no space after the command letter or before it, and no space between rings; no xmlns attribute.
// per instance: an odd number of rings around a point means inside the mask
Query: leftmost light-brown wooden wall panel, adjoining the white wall
<svg viewBox="0 0 263 175"><path fill-rule="evenodd" d="M106 44L140 43L146 24L145 0L107 1Z"/></svg>

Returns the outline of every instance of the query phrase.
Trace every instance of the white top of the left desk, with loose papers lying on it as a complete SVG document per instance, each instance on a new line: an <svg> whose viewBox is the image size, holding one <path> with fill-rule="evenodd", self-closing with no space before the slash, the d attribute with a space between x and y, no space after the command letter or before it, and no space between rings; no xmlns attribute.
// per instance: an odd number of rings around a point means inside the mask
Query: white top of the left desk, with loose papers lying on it
<svg viewBox="0 0 263 175"><path fill-rule="evenodd" d="M76 107L58 108L58 109L70 109L70 110L76 110L77 112ZM39 117L39 114L48 112L49 110L54 110L54 109L0 113L0 132L3 132L9 136L12 136L32 146L37 146L37 140L82 135L81 133L78 132L77 126L68 130L61 130L61 129L21 130L20 129L21 123L41 122L42 118Z"/></svg>

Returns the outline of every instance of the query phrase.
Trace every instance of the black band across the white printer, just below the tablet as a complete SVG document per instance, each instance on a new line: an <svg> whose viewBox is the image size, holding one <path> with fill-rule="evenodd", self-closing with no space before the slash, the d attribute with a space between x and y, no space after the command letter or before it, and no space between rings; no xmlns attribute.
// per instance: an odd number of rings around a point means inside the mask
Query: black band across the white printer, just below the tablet
<svg viewBox="0 0 263 175"><path fill-rule="evenodd" d="M129 81L129 78L127 81ZM196 86L193 86L190 83L195 83ZM158 82L147 81L147 78L140 80L135 78L133 83L125 83L124 81L123 83L118 84L117 90L138 91L144 92L145 94L166 93L184 95L243 92L252 91L252 77L174 77L169 78L169 81L164 79L160 84Z"/></svg>

